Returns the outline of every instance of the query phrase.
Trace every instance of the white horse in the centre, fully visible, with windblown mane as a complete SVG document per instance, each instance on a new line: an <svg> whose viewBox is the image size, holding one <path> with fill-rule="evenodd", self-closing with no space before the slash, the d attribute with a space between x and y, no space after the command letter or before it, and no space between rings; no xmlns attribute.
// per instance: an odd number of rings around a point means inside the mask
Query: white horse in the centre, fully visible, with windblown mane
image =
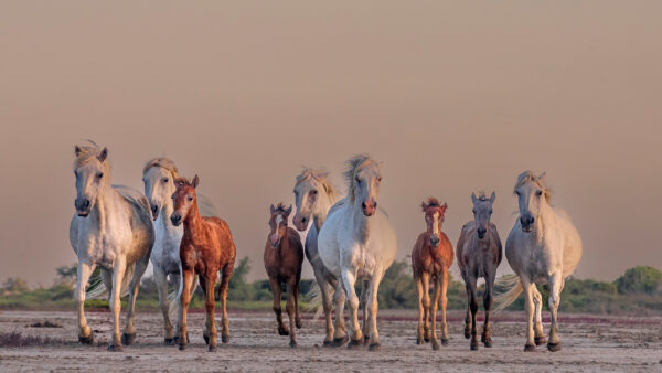
<svg viewBox="0 0 662 373"><path fill-rule="evenodd" d="M377 209L380 194L380 163L367 156L349 161L345 172L348 196L338 202L318 236L318 251L322 263L344 286L351 313L349 348L364 343L359 326L359 298L354 290L357 279L367 286L366 308L370 322L370 350L380 349L377 332L377 290L384 273L395 259L397 237L386 213Z"/></svg>

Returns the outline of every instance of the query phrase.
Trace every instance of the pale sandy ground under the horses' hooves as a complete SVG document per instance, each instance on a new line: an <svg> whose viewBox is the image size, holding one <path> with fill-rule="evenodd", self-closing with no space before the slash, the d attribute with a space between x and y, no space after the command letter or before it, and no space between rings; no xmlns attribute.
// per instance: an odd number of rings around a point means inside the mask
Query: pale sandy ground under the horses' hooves
<svg viewBox="0 0 662 373"><path fill-rule="evenodd" d="M267 312L231 312L231 341L215 353L202 339L203 313L190 315L188 350L162 344L159 313L138 315L136 344L107 352L110 315L88 312L95 344L77 343L75 312L0 312L0 331L20 331L62 339L47 347L0 348L0 371L656 371L662 372L662 318L562 315L560 352L538 347L523 352L522 313L500 315L492 327L493 348L470 351L462 335L462 316L449 317L450 343L440 351L416 345L416 311L381 311L382 350L320 348L322 321L303 320L299 347L276 333ZM49 320L62 328L30 328ZM547 324L545 323L545 330Z"/></svg>

